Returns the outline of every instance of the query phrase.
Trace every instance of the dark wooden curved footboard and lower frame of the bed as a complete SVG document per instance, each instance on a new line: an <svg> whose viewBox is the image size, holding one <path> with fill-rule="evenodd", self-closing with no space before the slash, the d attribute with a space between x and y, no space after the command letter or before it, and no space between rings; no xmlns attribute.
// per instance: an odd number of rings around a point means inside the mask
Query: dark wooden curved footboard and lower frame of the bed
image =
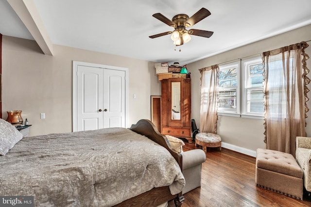
<svg viewBox="0 0 311 207"><path fill-rule="evenodd" d="M180 169L182 169L182 155L180 153L177 154L172 151L168 139L160 134L160 132L156 129L155 125L151 121L147 119L141 119L137 122L137 124L132 125L129 129L138 134L144 135L155 143L158 143L161 146L165 147L172 154L174 159L176 159L180 166ZM173 199L176 207L181 207L183 201L185 200L182 192L176 195L172 195L169 186L164 186L160 188L154 188L136 197L125 200L120 204L116 205L115 207L156 207Z"/></svg>

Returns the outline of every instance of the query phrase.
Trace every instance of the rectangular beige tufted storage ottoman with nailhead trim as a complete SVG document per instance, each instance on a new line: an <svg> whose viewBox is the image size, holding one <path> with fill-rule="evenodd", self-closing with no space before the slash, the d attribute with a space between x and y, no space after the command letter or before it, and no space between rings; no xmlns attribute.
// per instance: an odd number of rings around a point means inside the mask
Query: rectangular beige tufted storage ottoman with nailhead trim
<svg viewBox="0 0 311 207"><path fill-rule="evenodd" d="M302 200L302 170L293 155L269 149L257 149L256 184Z"/></svg>

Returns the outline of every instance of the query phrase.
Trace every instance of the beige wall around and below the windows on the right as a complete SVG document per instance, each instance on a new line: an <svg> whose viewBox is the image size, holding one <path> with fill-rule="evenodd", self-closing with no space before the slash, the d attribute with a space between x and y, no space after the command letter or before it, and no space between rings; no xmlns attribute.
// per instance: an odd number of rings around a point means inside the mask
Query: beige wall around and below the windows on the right
<svg viewBox="0 0 311 207"><path fill-rule="evenodd" d="M286 32L253 44L249 44L240 48L236 48L192 64L187 64L189 72L191 72L192 81L192 118L196 120L197 126L200 126L200 72L198 69L214 64L221 64L239 58L260 54L262 52L281 48L301 41L311 40L311 25ZM311 42L306 49L306 53L311 56ZM208 47L208 46L207 46ZM311 69L311 59L308 60L307 66ZM311 78L311 74L309 74ZM311 84L309 85L311 89ZM311 97L311 92L308 94ZM308 102L311 108L311 101ZM311 136L311 111L308 112L307 118L307 135ZM256 151L257 148L264 148L264 127L263 120L236 118L228 116L219 116L218 134L225 143L233 144L242 148Z"/></svg>

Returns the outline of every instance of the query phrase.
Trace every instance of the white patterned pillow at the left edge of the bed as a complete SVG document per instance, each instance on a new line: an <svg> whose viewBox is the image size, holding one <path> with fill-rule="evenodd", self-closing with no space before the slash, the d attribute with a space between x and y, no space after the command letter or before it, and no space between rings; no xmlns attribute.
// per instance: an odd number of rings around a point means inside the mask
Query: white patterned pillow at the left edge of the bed
<svg viewBox="0 0 311 207"><path fill-rule="evenodd" d="M0 119L0 155L5 155L22 138L22 133L16 127Z"/></svg>

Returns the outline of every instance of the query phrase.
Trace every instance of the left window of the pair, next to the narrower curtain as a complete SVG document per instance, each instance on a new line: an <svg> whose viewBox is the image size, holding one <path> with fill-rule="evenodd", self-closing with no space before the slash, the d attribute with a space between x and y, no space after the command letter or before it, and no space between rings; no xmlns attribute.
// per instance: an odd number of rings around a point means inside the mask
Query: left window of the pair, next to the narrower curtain
<svg viewBox="0 0 311 207"><path fill-rule="evenodd" d="M218 112L240 114L240 62L219 66Z"/></svg>

